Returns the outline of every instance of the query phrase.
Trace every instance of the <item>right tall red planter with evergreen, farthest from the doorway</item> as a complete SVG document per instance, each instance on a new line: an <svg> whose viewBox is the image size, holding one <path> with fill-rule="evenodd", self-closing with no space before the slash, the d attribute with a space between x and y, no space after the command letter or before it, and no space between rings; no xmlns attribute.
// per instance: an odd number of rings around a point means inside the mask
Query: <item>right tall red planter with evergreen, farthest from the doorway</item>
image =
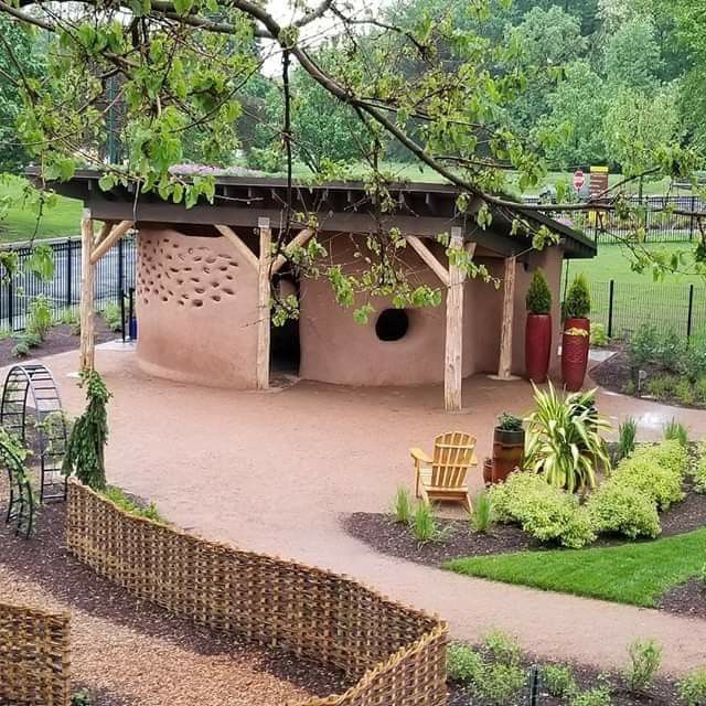
<svg viewBox="0 0 706 706"><path fill-rule="evenodd" d="M584 385L588 367L590 343L591 296L584 275L577 275L564 302L564 334L561 335L561 377L569 392Z"/></svg>

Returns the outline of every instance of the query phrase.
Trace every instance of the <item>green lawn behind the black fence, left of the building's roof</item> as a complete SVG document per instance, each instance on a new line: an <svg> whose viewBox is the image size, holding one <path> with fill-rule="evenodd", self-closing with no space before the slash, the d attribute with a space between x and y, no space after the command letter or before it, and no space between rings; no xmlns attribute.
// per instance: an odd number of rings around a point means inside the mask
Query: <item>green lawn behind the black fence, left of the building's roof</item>
<svg viewBox="0 0 706 706"><path fill-rule="evenodd" d="M15 243L38 238L55 238L78 235L83 204L75 199L58 196L56 204L45 208L38 225L38 208L22 202L24 180L19 176L2 175L0 197L9 196L11 205L4 218L0 220L0 243Z"/></svg>

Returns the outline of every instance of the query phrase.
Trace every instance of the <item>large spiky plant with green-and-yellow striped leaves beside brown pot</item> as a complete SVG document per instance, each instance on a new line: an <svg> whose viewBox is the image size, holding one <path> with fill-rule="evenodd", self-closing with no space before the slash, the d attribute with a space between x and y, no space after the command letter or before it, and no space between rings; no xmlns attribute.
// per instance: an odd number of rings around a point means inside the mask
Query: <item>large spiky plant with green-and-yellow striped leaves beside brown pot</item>
<svg viewBox="0 0 706 706"><path fill-rule="evenodd" d="M525 466L570 493L596 488L596 466L610 469L601 432L610 424L596 409L596 391L561 395L535 385L535 410L526 418Z"/></svg>

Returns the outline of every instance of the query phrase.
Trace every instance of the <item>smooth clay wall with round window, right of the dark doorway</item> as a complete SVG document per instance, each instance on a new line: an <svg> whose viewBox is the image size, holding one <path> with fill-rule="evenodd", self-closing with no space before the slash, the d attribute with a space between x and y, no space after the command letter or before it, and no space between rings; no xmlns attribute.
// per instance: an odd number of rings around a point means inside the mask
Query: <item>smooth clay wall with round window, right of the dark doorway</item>
<svg viewBox="0 0 706 706"><path fill-rule="evenodd" d="M350 240L340 238L329 245L332 261L351 269L353 248ZM436 254L445 257L440 247ZM512 370L524 374L525 295L532 269L545 268L554 291L555 329L558 328L558 292L561 274L561 252L531 254L528 270L517 265L515 289L515 325ZM429 268L409 248L404 261L415 284L439 287ZM504 276L500 258L478 258L491 275ZM307 379L347 385L419 385L443 381L443 349L446 336L446 304L408 311L409 330L399 341L381 341L375 333L377 315L389 300L376 299L376 313L367 324L353 320L353 309L342 309L333 299L330 285L323 280L301 281L300 375ZM495 289L481 279L466 284L463 317L463 376L493 373L500 355L500 322L502 318L502 286ZM362 301L356 302L360 306ZM558 340L558 336L557 336ZM556 353L553 353L556 365Z"/></svg>

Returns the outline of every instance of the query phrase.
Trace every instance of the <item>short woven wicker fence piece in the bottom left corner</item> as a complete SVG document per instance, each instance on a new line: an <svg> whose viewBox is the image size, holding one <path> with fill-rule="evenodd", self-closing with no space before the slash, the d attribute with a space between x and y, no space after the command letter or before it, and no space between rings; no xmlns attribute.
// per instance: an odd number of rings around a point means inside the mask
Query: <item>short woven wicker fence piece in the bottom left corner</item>
<svg viewBox="0 0 706 706"><path fill-rule="evenodd" d="M0 704L66 706L68 616L0 603Z"/></svg>

